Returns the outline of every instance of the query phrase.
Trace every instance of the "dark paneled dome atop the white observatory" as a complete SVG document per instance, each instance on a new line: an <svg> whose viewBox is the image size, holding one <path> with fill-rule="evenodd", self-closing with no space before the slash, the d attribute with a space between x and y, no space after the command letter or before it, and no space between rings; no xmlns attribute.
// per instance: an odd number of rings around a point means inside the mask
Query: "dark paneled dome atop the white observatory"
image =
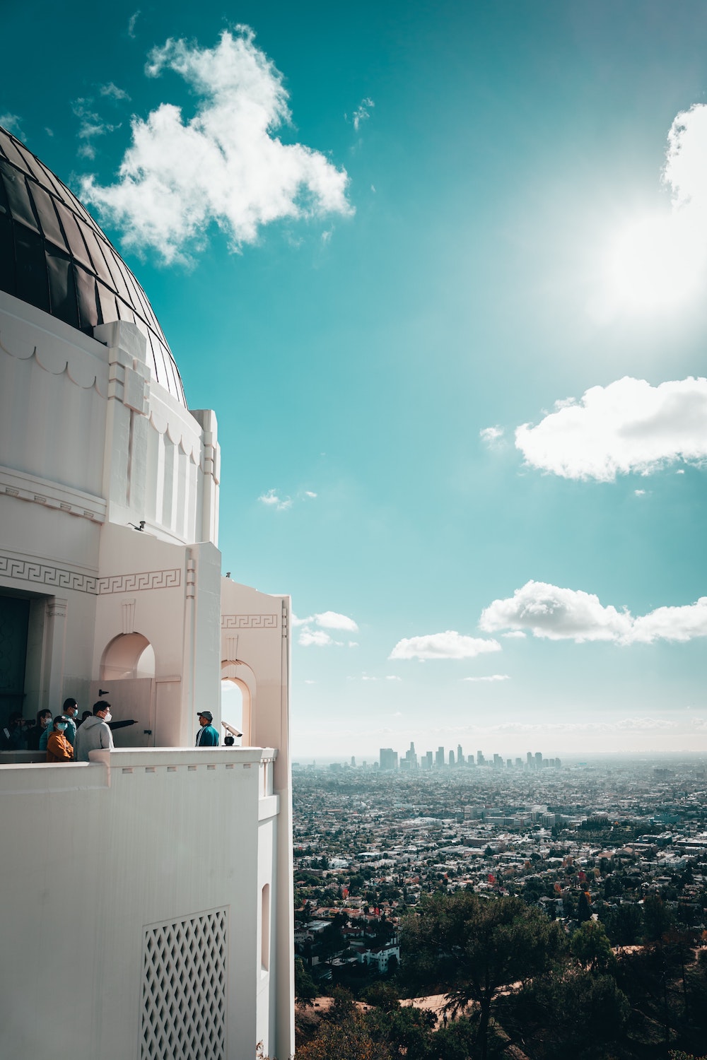
<svg viewBox="0 0 707 1060"><path fill-rule="evenodd" d="M89 335L113 320L137 324L155 378L187 405L144 290L75 195L1 126L0 290Z"/></svg>

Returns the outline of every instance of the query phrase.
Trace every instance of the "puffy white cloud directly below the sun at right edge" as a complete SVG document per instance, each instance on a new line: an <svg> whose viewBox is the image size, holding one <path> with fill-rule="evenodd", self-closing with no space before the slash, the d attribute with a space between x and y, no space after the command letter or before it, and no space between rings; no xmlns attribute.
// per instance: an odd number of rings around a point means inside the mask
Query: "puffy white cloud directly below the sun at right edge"
<svg viewBox="0 0 707 1060"><path fill-rule="evenodd" d="M648 475L677 460L707 458L707 379L652 387L624 376L591 387L579 403L564 404L515 431L526 463L563 478L612 482L617 475Z"/></svg>

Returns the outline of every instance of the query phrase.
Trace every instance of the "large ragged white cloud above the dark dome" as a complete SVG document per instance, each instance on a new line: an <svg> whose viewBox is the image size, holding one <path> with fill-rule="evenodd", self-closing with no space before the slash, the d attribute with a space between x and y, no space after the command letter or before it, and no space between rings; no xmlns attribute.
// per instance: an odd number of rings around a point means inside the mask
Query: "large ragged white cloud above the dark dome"
<svg viewBox="0 0 707 1060"><path fill-rule="evenodd" d="M188 120L169 103L134 118L118 182L82 182L84 200L122 228L128 248L152 247L169 263L202 248L211 223L238 250L271 222L353 212L344 170L276 136L289 122L288 94L253 39L240 26L212 49L170 39L151 53L147 74L175 71L199 103Z"/></svg>

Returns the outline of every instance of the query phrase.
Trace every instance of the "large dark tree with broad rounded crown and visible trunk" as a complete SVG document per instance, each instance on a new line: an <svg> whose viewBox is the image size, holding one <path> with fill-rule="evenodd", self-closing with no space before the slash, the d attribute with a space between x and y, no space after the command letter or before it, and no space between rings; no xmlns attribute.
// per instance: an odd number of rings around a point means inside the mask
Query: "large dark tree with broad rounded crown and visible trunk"
<svg viewBox="0 0 707 1060"><path fill-rule="evenodd" d="M546 971L565 949L556 923L519 898L481 900L469 890L434 895L403 924L403 973L408 982L446 993L446 1007L479 1006L478 1041L489 1049L492 1005L502 987Z"/></svg>

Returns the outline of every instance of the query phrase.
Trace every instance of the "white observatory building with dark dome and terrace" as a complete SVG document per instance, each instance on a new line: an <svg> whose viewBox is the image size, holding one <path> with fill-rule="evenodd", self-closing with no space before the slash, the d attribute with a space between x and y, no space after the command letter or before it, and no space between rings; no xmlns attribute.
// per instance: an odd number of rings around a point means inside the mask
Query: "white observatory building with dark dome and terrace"
<svg viewBox="0 0 707 1060"><path fill-rule="evenodd" d="M13 1060L294 1053L289 599L222 578L218 482L142 287L0 129L0 729L137 721L89 762L0 752ZM196 747L223 679L242 745Z"/></svg>

